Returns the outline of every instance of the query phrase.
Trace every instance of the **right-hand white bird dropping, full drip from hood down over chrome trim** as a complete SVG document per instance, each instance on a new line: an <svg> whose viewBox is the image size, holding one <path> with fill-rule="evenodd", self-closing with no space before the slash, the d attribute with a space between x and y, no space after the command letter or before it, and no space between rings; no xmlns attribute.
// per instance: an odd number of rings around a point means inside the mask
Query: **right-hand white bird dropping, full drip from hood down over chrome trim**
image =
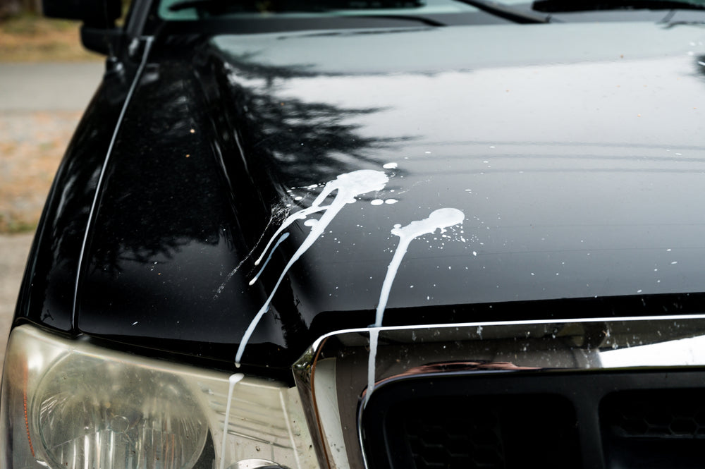
<svg viewBox="0 0 705 469"><path fill-rule="evenodd" d="M440 229L441 233L443 233L446 228L459 225L463 220L465 220L465 214L460 210L444 208L434 210L429 214L428 218L412 221L407 226L397 224L392 229L392 234L399 237L399 244L387 267L387 274L382 283L382 291L379 294L379 303L377 303L374 327L369 330L369 362L367 363L367 392L364 396L365 405L367 405L369 396L372 395L372 391L374 391L375 360L377 355L377 339L379 336L379 329L377 328L382 326L384 309L387 306L389 292L391 291L394 278L396 277L401 261L410 243L419 236L434 233L437 229Z"/></svg>

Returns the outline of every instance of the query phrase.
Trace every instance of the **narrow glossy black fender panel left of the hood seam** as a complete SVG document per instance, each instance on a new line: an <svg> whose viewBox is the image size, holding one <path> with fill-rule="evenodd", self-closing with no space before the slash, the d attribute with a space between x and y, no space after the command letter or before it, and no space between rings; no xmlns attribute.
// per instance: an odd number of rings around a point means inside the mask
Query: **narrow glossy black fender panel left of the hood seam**
<svg viewBox="0 0 705 469"><path fill-rule="evenodd" d="M129 69L109 68L66 150L32 245L16 317L74 331L78 260L98 176L127 93Z"/></svg>

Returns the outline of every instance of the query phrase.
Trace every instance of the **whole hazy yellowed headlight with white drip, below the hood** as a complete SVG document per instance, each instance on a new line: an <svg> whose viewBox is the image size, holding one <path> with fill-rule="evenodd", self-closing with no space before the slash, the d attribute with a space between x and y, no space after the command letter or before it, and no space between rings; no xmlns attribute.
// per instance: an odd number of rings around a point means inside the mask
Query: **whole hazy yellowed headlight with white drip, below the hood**
<svg viewBox="0 0 705 469"><path fill-rule="evenodd" d="M0 465L317 468L296 390L229 378L18 327L4 367Z"/></svg>

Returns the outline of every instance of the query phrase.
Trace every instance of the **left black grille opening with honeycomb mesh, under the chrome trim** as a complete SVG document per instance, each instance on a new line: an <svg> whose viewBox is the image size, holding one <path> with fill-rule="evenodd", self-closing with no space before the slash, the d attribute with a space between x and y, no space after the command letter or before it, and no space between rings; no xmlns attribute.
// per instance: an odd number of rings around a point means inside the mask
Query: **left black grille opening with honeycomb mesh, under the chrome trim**
<svg viewBox="0 0 705 469"><path fill-rule="evenodd" d="M394 469L581 465L575 410L558 395L402 401L384 419L384 434Z"/></svg>

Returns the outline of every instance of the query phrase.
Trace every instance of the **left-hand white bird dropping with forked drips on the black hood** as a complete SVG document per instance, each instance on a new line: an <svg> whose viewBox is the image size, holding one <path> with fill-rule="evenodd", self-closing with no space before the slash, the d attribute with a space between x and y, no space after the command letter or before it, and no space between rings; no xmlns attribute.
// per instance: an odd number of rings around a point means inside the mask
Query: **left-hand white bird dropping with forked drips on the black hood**
<svg viewBox="0 0 705 469"><path fill-rule="evenodd" d="M328 225L331 223L331 221L333 221L338 212L340 212L346 204L352 204L353 202L355 202L355 197L358 195L372 192L373 190L384 189L384 186L388 181L389 178L386 176L385 173L383 173L382 171L374 171L372 169L361 169L360 171L353 171L352 173L341 174L335 180L326 183L326 186L318 195L318 197L316 197L316 200L313 201L311 207L296 212L284 221L282 226L288 226L289 224L293 223L293 221L296 219L304 219L309 214L324 211L317 223L311 226L311 231L309 235L306 237L305 240L303 240L298 250L294 252L294 255L286 264L286 267L284 267L283 271L281 272L279 279L276 281L274 288L269 294L269 298L266 299L264 305L262 305L262 307L257 312L257 315L255 315L255 318L252 319L252 322L250 322L250 325L247 327L247 330L243 335L243 339L242 341L240 341L238 353L235 355L235 366L240 366L240 359L243 358L243 352L245 351L245 346L247 346L247 341L250 340L252 332L255 331L255 327L257 327L257 324L259 323L260 319L262 319L262 316L264 316L264 313L269 310L269 304L271 303L272 298L274 298L274 293L276 293L276 290L277 288L279 288L281 281L284 279L284 276L286 276L286 273L289 271L294 262L299 260L299 257L301 257L303 253L306 252L308 248L310 248L313 243L316 242L319 236L321 236L324 231L326 231ZM333 202L331 202L331 205L321 207L321 202L324 202L324 200L326 200L326 198L336 190L338 192L336 194L336 197L333 198ZM280 232L281 227L277 230L277 233ZM271 244L271 240L269 244ZM260 260L261 259L262 256L260 256ZM255 262L255 264L257 263L259 262Z"/></svg>

